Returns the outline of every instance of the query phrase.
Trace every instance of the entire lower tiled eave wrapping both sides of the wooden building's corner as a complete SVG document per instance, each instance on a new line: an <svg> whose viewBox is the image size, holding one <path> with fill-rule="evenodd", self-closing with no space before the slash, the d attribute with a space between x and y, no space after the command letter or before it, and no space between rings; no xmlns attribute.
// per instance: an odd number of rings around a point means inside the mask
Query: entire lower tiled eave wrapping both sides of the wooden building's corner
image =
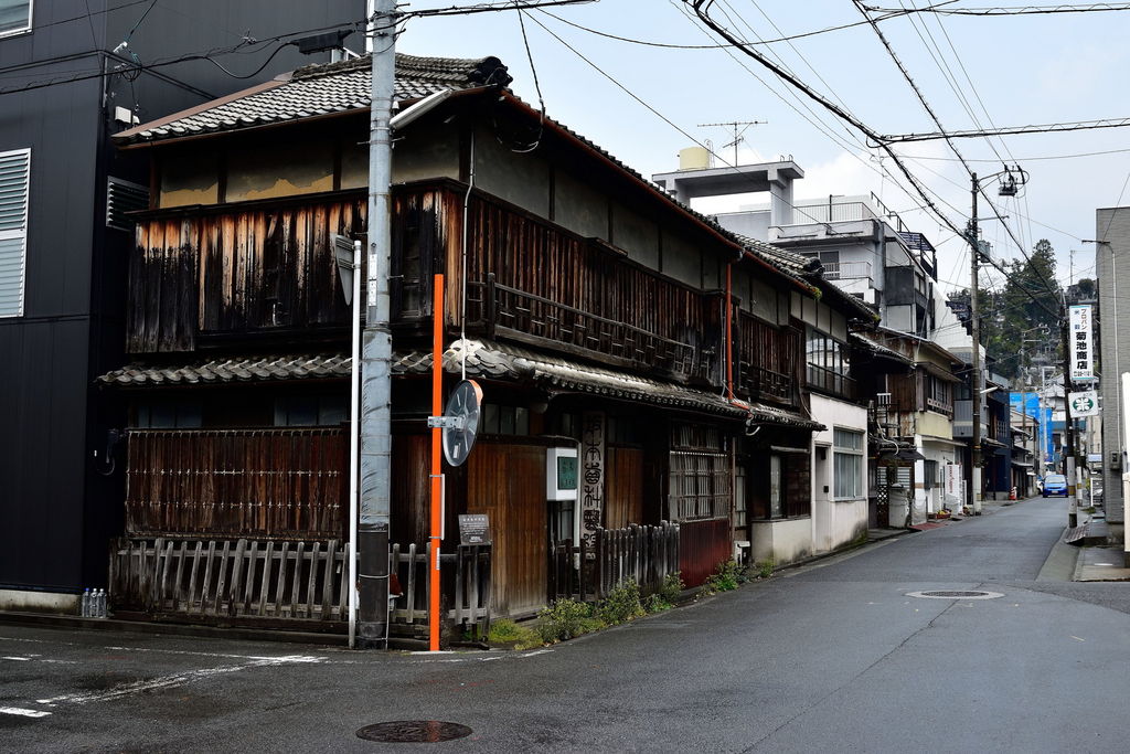
<svg viewBox="0 0 1130 754"><path fill-rule="evenodd" d="M453 343L443 354L443 369L458 374L463 343ZM652 406L668 406L733 419L820 428L800 414L751 404L736 406L716 393L637 376L600 366L548 356L511 345L467 340L467 374L472 378L531 381L550 392L585 392ZM350 358L344 354L262 356L215 359L195 365L153 367L144 365L114 370L97 379L106 385L159 387L209 383L348 378ZM401 350L393 355L392 374L425 375L432 372L432 352Z"/></svg>

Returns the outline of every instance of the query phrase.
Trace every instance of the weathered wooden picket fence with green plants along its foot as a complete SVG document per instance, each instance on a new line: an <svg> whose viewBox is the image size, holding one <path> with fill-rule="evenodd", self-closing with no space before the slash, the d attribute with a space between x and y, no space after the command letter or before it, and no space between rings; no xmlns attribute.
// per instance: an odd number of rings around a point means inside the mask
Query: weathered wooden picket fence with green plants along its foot
<svg viewBox="0 0 1130 754"><path fill-rule="evenodd" d="M634 579L646 596L678 571L678 523L598 529L591 547L571 540L551 543L549 599L596 601L627 579Z"/></svg>

